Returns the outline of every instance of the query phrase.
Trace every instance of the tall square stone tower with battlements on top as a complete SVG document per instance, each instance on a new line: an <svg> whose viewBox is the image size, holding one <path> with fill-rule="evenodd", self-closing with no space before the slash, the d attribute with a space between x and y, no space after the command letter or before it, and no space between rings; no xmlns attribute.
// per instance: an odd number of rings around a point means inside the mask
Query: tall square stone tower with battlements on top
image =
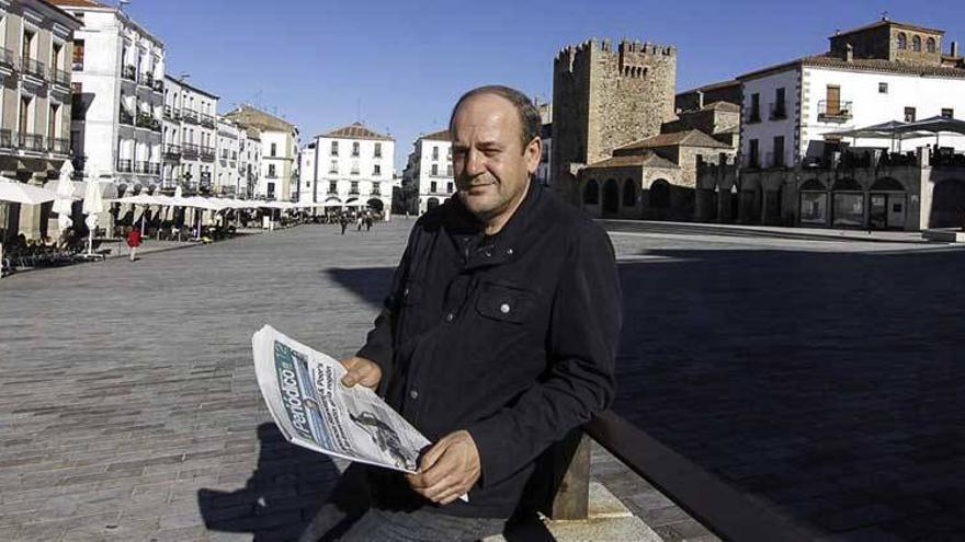
<svg viewBox="0 0 965 542"><path fill-rule="evenodd" d="M553 64L553 185L577 201L577 172L673 120L677 48L591 39Z"/></svg>

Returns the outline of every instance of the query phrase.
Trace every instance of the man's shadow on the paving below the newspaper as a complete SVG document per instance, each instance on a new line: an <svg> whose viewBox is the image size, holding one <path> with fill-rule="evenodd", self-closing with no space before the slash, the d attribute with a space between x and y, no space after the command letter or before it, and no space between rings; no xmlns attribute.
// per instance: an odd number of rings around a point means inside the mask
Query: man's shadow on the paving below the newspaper
<svg viewBox="0 0 965 542"><path fill-rule="evenodd" d="M327 455L290 445L274 423L258 427L260 455L232 492L203 488L197 506L212 531L250 532L256 542L297 540L339 480Z"/></svg>

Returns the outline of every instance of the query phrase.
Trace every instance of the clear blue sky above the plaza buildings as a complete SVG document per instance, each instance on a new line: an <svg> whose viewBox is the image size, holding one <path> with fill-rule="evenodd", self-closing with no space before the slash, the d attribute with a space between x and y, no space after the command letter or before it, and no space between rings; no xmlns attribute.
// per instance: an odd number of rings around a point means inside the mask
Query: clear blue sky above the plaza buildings
<svg viewBox="0 0 965 542"><path fill-rule="evenodd" d="M113 0L105 0L113 2ZM167 71L294 122L303 142L360 118L396 138L444 127L458 95L502 83L553 94L567 44L622 37L678 47L678 90L826 50L836 28L896 21L965 48L965 1L132 0L167 46ZM361 104L361 107L360 107Z"/></svg>

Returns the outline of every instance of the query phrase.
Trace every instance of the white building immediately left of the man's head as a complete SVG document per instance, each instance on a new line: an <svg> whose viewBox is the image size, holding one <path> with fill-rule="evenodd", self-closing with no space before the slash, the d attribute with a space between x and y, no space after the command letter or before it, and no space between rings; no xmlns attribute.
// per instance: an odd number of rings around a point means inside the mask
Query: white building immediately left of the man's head
<svg viewBox="0 0 965 542"><path fill-rule="evenodd" d="M441 130L416 140L408 175L419 194L419 215L438 207L455 193L452 137Z"/></svg>

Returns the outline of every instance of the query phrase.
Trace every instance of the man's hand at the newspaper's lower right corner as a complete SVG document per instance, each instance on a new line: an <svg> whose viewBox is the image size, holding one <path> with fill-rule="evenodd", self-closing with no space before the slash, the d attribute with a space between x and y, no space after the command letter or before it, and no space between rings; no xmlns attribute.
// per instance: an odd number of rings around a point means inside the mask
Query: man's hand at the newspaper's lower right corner
<svg viewBox="0 0 965 542"><path fill-rule="evenodd" d="M407 474L409 485L419 495L447 505L468 493L479 480L479 450L468 431L443 437L422 457L419 472Z"/></svg>

